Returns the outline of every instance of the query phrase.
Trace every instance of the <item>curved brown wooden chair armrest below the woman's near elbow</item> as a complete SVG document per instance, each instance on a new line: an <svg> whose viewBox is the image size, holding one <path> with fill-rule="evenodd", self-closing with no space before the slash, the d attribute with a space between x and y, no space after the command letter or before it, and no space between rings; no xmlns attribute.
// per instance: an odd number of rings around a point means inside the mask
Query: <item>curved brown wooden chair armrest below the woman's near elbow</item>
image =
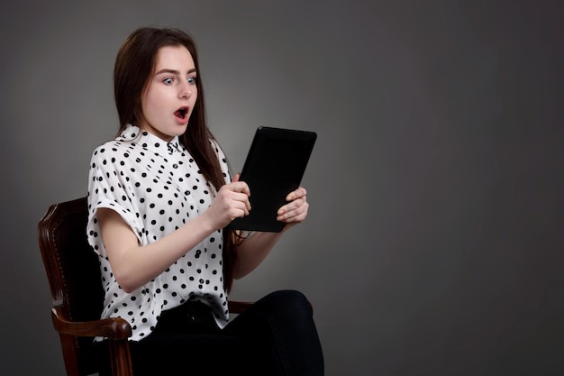
<svg viewBox="0 0 564 376"><path fill-rule="evenodd" d="M53 326L59 333L81 337L101 336L112 340L132 336L132 326L121 317L110 317L91 321L70 321L60 306L51 309Z"/></svg>

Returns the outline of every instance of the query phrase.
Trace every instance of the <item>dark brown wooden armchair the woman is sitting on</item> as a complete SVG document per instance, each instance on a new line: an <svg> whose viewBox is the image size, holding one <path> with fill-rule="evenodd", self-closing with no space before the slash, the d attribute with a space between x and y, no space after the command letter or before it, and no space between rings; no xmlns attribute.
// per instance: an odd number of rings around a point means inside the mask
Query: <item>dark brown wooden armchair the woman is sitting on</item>
<svg viewBox="0 0 564 376"><path fill-rule="evenodd" d="M129 323L120 317L100 319L104 290L98 256L86 240L86 197L54 204L41 218L39 247L52 297L51 317L60 336L68 376L100 371L93 338L108 339L114 376L132 376ZM251 303L230 302L233 313Z"/></svg>

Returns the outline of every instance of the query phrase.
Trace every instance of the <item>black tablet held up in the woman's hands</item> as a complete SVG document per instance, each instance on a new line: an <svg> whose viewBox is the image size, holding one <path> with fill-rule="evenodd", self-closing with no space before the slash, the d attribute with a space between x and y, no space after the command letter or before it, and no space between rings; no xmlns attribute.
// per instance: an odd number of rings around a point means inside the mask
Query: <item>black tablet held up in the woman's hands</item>
<svg viewBox="0 0 564 376"><path fill-rule="evenodd" d="M236 218L227 228L279 233L284 223L277 211L300 186L317 133L260 126L241 170L250 188L250 214Z"/></svg>

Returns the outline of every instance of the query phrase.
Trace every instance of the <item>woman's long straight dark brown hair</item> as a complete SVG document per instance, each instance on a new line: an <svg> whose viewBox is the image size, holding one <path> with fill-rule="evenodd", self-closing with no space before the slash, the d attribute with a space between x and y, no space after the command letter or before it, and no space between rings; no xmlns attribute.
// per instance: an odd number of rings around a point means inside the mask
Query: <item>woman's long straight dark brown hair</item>
<svg viewBox="0 0 564 376"><path fill-rule="evenodd" d="M141 124L141 98L155 69L159 49L166 46L186 47L196 65L198 97L186 132L179 140L196 160L205 179L219 190L225 180L217 154L210 143L210 140L215 139L206 122L204 87L196 41L186 32L176 28L143 27L132 32L123 41L114 66L114 97L120 120L118 134L123 132L127 124ZM223 285L228 291L232 286L236 243L237 236L232 231L223 230Z"/></svg>

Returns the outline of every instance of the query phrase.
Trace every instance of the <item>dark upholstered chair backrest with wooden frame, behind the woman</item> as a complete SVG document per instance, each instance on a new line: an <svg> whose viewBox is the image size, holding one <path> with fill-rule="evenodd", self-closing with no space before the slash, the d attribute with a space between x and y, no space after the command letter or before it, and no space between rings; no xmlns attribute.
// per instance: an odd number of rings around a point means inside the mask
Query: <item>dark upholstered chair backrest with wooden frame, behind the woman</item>
<svg viewBox="0 0 564 376"><path fill-rule="evenodd" d="M100 318L104 290L98 256L86 239L86 197L49 207L39 222L39 245L50 284L53 307L71 321ZM99 358L92 338L60 335L63 358L77 374L96 373Z"/></svg>

